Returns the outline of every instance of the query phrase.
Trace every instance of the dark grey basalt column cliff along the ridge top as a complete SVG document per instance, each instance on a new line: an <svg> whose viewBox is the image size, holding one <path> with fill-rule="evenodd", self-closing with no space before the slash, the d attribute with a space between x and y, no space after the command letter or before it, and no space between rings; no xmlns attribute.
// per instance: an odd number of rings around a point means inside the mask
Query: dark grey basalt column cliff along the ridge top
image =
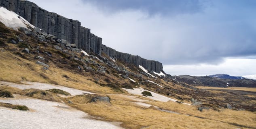
<svg viewBox="0 0 256 129"><path fill-rule="evenodd" d="M35 27L39 27L61 40L76 44L78 48L86 52L93 52L99 55L104 52L111 58L122 60L129 64L135 64L137 67L142 65L148 71L155 71L157 73L163 71L163 65L160 62L117 52L103 45L102 38L91 33L90 29L81 26L79 21L48 12L33 2L25 0L0 0L0 6L17 13Z"/></svg>

